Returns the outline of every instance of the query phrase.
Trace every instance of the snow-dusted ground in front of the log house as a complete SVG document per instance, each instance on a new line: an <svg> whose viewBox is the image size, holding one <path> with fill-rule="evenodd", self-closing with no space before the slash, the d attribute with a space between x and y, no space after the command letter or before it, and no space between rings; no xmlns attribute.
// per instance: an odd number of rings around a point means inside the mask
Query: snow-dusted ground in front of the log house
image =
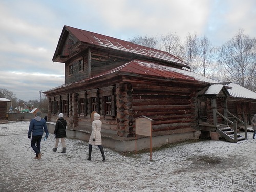
<svg viewBox="0 0 256 192"><path fill-rule="evenodd" d="M29 122L0 125L0 191L255 191L252 133L240 143L184 142L150 154L125 156L104 148L106 161L88 143L66 139L67 153L52 151L52 134L41 142L40 160L27 137Z"/></svg>

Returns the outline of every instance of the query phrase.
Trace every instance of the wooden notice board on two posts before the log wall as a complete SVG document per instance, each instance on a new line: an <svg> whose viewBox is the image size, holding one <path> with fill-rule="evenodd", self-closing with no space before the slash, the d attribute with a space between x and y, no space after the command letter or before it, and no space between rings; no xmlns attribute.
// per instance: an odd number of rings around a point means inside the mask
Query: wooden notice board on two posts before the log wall
<svg viewBox="0 0 256 192"><path fill-rule="evenodd" d="M135 119L135 156L137 155L137 135L150 137L150 160L152 160L152 119L142 115Z"/></svg>

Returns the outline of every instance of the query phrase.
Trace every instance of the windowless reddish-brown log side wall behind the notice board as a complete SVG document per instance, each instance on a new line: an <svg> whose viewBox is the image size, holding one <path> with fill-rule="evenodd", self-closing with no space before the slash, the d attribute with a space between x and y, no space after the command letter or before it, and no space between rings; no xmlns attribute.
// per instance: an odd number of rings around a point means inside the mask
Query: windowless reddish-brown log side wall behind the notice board
<svg viewBox="0 0 256 192"><path fill-rule="evenodd" d="M197 124L196 88L176 83L163 86L134 83L132 109L134 118L153 119L153 131L195 127Z"/></svg>

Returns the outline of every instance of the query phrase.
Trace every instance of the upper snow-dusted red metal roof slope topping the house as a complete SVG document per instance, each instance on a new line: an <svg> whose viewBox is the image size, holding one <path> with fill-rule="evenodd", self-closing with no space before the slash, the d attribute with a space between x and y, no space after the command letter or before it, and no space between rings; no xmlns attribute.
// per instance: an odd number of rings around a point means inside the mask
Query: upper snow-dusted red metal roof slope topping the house
<svg viewBox="0 0 256 192"><path fill-rule="evenodd" d="M186 63L184 63L177 57L165 51L141 46L138 44L133 44L132 42L116 39L116 38L109 37L106 35L101 35L98 33L93 33L90 31L77 29L70 26L65 26L65 27L70 33L75 35L79 41L87 44L93 44L93 45L97 45L105 48L111 48L111 49L115 49L123 52L139 54L142 56L160 59L167 62L177 63L178 65L189 68L189 66Z"/></svg>

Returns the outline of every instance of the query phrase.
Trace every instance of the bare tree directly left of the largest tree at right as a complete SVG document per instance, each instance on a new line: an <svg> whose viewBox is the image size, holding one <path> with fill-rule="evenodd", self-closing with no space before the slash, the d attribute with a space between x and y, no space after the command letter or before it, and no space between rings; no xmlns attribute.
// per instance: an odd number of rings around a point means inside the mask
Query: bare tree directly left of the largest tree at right
<svg viewBox="0 0 256 192"><path fill-rule="evenodd" d="M198 41L198 71L205 77L211 77L214 72L215 48L210 40L203 36Z"/></svg>

